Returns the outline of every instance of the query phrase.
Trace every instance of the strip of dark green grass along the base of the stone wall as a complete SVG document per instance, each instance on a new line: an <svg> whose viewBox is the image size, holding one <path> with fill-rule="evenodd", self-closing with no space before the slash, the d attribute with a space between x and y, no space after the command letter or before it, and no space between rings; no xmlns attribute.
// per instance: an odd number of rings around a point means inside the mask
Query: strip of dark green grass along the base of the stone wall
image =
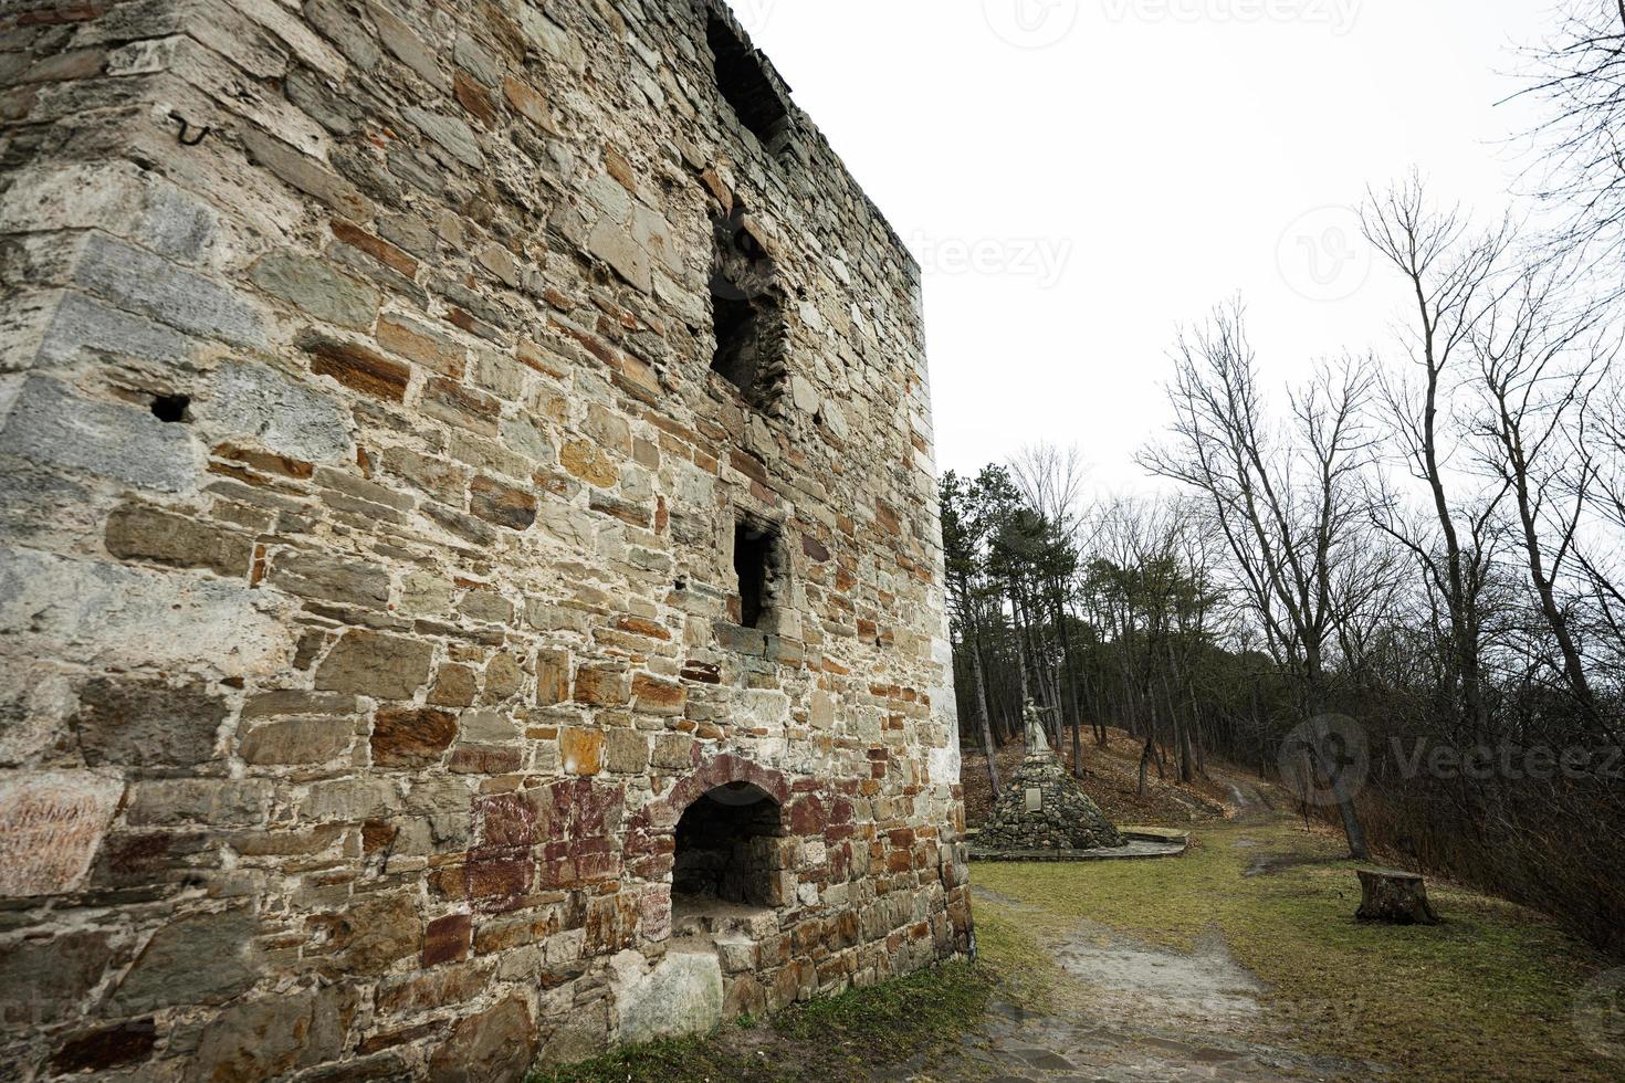
<svg viewBox="0 0 1625 1083"><path fill-rule="evenodd" d="M738 1020L713 1034L622 1049L531 1083L798 1083L869 1078L951 1046L986 1008L993 977L968 963Z"/></svg>

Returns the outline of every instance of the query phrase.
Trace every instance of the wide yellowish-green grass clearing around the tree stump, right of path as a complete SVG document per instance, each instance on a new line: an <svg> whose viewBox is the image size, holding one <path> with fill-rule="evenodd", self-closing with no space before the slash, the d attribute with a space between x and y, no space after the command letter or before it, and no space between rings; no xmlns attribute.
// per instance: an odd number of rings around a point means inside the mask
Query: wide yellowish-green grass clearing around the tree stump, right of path
<svg viewBox="0 0 1625 1083"><path fill-rule="evenodd" d="M1443 885L1428 888L1438 927L1357 922L1355 865L1342 852L1332 838L1276 820L1198 828L1178 861L977 865L978 887L1040 908L1016 919L978 903L977 922L983 943L990 927L1016 921L1037 935L1089 919L1176 950L1217 929L1268 984L1274 1023L1263 1038L1376 1062L1396 1078L1622 1078L1625 1065L1592 1055L1571 1023L1576 994L1606 968L1601 956L1540 916ZM1243 877L1259 859L1274 859L1274 870ZM994 966L1056 981L1042 951L1017 942L1009 963L1003 932L991 945Z"/></svg>

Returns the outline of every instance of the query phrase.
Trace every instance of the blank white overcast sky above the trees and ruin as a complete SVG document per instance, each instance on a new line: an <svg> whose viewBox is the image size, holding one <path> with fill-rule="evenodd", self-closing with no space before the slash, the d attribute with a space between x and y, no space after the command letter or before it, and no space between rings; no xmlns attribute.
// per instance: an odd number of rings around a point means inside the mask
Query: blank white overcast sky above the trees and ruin
<svg viewBox="0 0 1625 1083"><path fill-rule="evenodd" d="M1276 386L1393 341L1349 232L1420 169L1498 214L1549 0L733 0L915 250L941 469L1076 443L1150 482L1181 323L1242 294ZM1313 263L1311 263L1313 260ZM1370 271L1370 274L1367 274Z"/></svg>

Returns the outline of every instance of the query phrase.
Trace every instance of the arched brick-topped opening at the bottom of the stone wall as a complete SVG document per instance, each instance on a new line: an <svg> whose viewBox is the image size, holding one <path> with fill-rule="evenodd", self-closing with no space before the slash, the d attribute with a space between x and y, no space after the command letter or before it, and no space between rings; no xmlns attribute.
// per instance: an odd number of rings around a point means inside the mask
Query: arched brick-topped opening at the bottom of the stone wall
<svg viewBox="0 0 1625 1083"><path fill-rule="evenodd" d="M712 919L738 908L783 906L782 836L778 802L749 783L718 786L689 805L671 867L673 932L715 932Z"/></svg>

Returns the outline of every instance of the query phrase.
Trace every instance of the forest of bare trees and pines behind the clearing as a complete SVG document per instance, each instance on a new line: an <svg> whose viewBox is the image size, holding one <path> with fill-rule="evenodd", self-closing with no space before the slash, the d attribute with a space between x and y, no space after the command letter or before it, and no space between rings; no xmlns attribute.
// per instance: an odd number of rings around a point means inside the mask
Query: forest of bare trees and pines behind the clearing
<svg viewBox="0 0 1625 1083"><path fill-rule="evenodd" d="M1030 697L1079 773L1110 726L1142 776L1279 776L1352 856L1625 950L1625 3L1526 58L1524 218L1363 206L1398 334L1276 390L1228 302L1172 349L1159 495L1048 447L942 479L960 724L993 752Z"/></svg>

